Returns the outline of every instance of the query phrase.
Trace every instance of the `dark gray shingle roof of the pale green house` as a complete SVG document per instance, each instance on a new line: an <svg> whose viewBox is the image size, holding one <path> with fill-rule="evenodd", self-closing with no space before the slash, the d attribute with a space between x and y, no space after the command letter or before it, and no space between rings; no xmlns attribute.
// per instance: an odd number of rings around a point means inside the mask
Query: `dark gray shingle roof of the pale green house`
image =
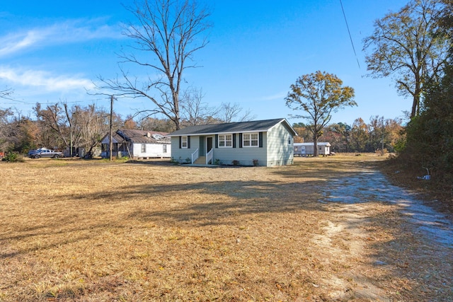
<svg viewBox="0 0 453 302"><path fill-rule="evenodd" d="M285 119L259 120L251 122L230 122L225 124L200 124L176 130L168 134L168 137L178 137L180 135L207 135L218 133L238 133L238 132L266 132L276 124L284 122L294 135L297 135L291 125Z"/></svg>

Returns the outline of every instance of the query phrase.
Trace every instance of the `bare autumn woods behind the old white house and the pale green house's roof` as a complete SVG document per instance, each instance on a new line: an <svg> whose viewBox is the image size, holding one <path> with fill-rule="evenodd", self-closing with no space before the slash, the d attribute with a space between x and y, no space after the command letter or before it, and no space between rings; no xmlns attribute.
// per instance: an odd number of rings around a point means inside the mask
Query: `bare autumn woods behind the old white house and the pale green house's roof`
<svg viewBox="0 0 453 302"><path fill-rule="evenodd" d="M250 111L244 111L237 103L222 103L218 108L208 108L200 98L197 103L185 100L181 112L182 127L253 119ZM27 153L30 149L46 147L67 149L71 153L76 148L83 148L89 155L110 129L110 112L93 104L69 106L67 102L59 101L43 107L37 103L33 115L25 116L12 108L0 109L0 152ZM116 112L113 112L112 127L156 132L176 130L170 119L147 115L122 118Z"/></svg>

